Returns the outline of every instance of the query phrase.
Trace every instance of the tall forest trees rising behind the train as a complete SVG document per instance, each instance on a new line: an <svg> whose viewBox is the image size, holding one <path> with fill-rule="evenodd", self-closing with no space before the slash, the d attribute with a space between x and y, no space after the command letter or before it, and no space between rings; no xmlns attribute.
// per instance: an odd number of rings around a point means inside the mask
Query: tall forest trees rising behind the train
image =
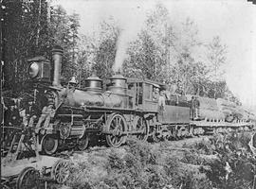
<svg viewBox="0 0 256 189"><path fill-rule="evenodd" d="M143 27L132 41L113 17L101 21L100 30L84 35L80 15L67 14L50 1L2 2L3 88L18 93L27 80L27 60L34 56L50 59L51 48L64 48L63 80L75 76L80 87L84 78L97 74L102 79L120 72L164 82L169 90L184 94L229 98L239 103L227 86L224 65L229 50L219 36L202 42L192 19L179 25L170 12L157 4L147 14Z"/></svg>

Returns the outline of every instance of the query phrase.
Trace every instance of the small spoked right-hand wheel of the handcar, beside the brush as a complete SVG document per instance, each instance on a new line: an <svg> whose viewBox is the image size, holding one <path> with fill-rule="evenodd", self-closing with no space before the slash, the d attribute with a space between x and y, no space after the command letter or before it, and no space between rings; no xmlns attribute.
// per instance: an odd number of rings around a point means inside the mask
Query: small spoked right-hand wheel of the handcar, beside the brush
<svg viewBox="0 0 256 189"><path fill-rule="evenodd" d="M51 178L57 183L64 183L70 174L69 165L70 163L66 160L57 161L51 168Z"/></svg>

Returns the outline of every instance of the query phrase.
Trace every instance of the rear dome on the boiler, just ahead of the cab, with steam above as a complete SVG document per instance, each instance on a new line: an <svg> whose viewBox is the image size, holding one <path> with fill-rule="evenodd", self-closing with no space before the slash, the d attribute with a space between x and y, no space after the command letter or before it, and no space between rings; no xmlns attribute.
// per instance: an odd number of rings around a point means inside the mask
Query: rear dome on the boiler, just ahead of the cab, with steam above
<svg viewBox="0 0 256 189"><path fill-rule="evenodd" d="M110 78L110 84L107 90L114 94L126 94L127 92L127 78L121 75L115 75Z"/></svg>

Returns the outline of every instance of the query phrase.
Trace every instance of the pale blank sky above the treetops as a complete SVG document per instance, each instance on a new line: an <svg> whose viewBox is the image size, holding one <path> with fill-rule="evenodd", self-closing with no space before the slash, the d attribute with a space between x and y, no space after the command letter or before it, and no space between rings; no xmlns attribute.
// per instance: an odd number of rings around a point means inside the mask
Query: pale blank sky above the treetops
<svg viewBox="0 0 256 189"><path fill-rule="evenodd" d="M147 13L157 3L170 12L171 21L182 23L190 17L199 38L210 42L220 36L228 46L226 80L243 104L256 106L256 5L247 0L52 0L67 13L80 14L82 34L97 32L99 24L113 16L119 25L135 35ZM132 40L132 38L131 38Z"/></svg>

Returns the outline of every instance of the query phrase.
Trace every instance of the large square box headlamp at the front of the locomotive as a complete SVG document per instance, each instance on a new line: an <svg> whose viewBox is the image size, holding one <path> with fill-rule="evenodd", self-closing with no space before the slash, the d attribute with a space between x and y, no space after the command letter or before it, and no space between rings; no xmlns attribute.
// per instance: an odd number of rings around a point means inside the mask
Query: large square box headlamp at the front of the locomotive
<svg viewBox="0 0 256 189"><path fill-rule="evenodd" d="M35 57L27 60L29 66L27 69L30 78L35 80L50 81L50 61L45 57Z"/></svg>

